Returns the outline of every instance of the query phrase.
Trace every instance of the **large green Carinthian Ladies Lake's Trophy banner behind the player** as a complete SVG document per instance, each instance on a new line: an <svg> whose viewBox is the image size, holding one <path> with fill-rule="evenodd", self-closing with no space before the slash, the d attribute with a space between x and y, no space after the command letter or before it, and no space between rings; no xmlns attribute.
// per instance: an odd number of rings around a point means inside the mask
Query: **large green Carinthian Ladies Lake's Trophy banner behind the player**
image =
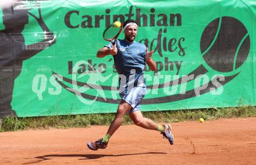
<svg viewBox="0 0 256 165"><path fill-rule="evenodd" d="M105 28L127 19L157 62L144 70L143 111L256 103L255 1L19 1L0 11L0 117L116 112L113 58L96 53Z"/></svg>

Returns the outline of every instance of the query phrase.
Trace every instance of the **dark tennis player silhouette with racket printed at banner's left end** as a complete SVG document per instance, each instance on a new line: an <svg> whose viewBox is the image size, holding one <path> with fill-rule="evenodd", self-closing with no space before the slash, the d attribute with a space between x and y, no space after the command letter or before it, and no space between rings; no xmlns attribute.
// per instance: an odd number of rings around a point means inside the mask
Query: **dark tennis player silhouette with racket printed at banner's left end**
<svg viewBox="0 0 256 165"><path fill-rule="evenodd" d="M55 44L54 34L42 20L39 3L37 3L36 9L38 9L39 17L29 12L30 9L27 9L20 1L2 9L5 30L0 31L0 118L16 116L10 103L12 102L14 81L22 71L23 61ZM22 31L29 23L29 16L37 20L45 33L42 35L41 42L26 45Z"/></svg>

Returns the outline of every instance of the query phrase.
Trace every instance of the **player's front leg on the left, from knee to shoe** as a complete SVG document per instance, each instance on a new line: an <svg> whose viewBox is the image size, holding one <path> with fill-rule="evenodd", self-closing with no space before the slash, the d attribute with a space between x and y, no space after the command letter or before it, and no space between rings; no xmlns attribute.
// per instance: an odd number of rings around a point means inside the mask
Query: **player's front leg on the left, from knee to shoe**
<svg viewBox="0 0 256 165"><path fill-rule="evenodd" d="M123 117L125 114L131 110L131 106L129 103L125 101L121 101L118 106L118 110L116 112L115 119L112 121L111 125L108 128L108 132L106 132L105 137L99 139L95 142L88 142L87 146L91 150L105 149L108 145L109 138L115 133L116 130L122 125Z"/></svg>

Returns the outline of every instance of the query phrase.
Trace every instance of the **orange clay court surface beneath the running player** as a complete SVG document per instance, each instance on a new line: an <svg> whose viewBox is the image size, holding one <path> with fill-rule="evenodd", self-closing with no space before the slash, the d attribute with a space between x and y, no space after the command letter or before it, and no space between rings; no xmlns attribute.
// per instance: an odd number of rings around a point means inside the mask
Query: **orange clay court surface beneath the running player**
<svg viewBox="0 0 256 165"><path fill-rule="evenodd" d="M122 125L108 148L88 141L107 126L0 133L0 164L256 164L256 118L172 123L175 144L158 131Z"/></svg>

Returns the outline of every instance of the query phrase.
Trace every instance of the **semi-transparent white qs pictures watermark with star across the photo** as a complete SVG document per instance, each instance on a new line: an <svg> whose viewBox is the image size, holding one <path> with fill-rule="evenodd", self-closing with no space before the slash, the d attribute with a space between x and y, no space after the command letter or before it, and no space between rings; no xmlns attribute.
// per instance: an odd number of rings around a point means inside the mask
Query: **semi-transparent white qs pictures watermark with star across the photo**
<svg viewBox="0 0 256 165"><path fill-rule="evenodd" d="M72 74L72 78L69 79L71 81L67 81L62 75L60 74L53 74L49 80L47 76L44 74L37 74L33 78L32 83L32 91L37 94L39 100L43 100L43 93L48 92L49 95L60 95L62 92L62 85L58 82L63 82L67 86L65 87L66 90L72 92L77 96L80 102L83 102L86 105L91 105L97 98L103 98L105 101L107 98L111 97L113 100L118 100L119 93L124 90L126 83L128 84L129 88L131 89L134 86L133 76L135 70L130 71L130 76L127 77L125 75L118 75L118 74L109 74L108 76L104 76L102 74L102 69L99 67L97 70L93 69L90 63L87 61L81 60L77 62L73 70L78 70L81 64L87 64L91 67L91 70L84 71L82 74ZM82 78L86 79L86 83L81 83ZM111 81L111 88L106 89L105 86L100 85L106 82ZM148 85L147 91L145 95L151 94L158 97L160 93L163 92L165 95L186 95L187 91L191 91L191 86L193 86L195 96L200 96L200 92L207 89L209 85L209 92L211 95L221 95L223 92L223 86L221 84L222 81L225 81L225 76L222 74L215 74L212 77L209 77L207 74L200 74L195 76L194 74L191 75L163 75L161 73L155 73L154 75L151 74L143 74L138 78L138 84L143 83L144 80L146 84L153 84ZM120 82L120 88L118 88L118 82ZM160 83L164 82L164 83ZM48 83L52 85L52 87L47 88ZM109 83L108 83L109 85ZM89 89L93 89L94 95L91 95L90 99L83 98L83 94L87 93ZM109 92L111 95L109 95ZM108 95L107 95L108 94Z"/></svg>

